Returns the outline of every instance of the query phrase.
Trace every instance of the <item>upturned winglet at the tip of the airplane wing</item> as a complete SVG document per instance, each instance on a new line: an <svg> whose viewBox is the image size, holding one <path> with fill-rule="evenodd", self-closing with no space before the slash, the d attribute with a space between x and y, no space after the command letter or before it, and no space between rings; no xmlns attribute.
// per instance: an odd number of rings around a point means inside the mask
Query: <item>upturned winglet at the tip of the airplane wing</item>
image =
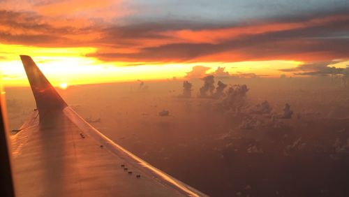
<svg viewBox="0 0 349 197"><path fill-rule="evenodd" d="M27 55L20 55L20 58L27 73L39 114L46 110L63 110L66 108L66 102L45 78L33 59Z"/></svg>

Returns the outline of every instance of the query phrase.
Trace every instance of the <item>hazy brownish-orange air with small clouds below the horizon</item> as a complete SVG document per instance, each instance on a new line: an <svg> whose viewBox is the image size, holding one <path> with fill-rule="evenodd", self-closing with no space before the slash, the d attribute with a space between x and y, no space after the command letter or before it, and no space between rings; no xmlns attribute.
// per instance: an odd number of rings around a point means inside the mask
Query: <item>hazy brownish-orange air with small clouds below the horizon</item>
<svg viewBox="0 0 349 197"><path fill-rule="evenodd" d="M349 93L341 78L211 82L137 81L59 93L110 139L211 196L348 194ZM6 94L10 129L17 129L34 99L24 87Z"/></svg>

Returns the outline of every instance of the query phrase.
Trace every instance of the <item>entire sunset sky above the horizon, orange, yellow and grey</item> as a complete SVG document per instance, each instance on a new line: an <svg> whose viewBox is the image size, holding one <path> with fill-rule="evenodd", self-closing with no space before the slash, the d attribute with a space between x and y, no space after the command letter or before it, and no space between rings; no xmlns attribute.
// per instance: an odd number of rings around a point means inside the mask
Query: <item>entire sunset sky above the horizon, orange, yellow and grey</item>
<svg viewBox="0 0 349 197"><path fill-rule="evenodd" d="M0 0L5 85L28 83L19 54L54 85L183 78L193 66L339 73L349 64L349 1Z"/></svg>

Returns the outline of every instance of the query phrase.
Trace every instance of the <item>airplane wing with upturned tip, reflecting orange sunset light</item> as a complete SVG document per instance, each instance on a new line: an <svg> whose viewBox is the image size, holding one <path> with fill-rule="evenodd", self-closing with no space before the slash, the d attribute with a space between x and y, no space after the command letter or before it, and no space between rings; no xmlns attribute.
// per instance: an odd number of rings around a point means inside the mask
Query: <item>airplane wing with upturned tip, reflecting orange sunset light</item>
<svg viewBox="0 0 349 197"><path fill-rule="evenodd" d="M94 129L20 58L37 110L10 136L0 105L0 196L207 196Z"/></svg>

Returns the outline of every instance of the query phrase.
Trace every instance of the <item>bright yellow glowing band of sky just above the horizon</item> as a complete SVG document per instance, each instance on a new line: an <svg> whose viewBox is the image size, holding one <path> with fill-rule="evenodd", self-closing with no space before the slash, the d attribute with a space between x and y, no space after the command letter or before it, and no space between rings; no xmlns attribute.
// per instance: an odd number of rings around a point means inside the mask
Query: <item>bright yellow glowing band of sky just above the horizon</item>
<svg viewBox="0 0 349 197"><path fill-rule="evenodd" d="M242 61L242 62L196 62L172 64L147 64L127 66L130 62L105 62L86 54L96 48L37 48L23 45L0 44L0 68L5 86L28 86L20 54L30 55L52 85L82 85L105 82L127 82L135 80L165 80L183 78L193 66L207 66L212 73L218 66L225 67L230 74L255 73L279 77L281 68L293 68L299 61ZM138 64L138 62L135 62Z"/></svg>

